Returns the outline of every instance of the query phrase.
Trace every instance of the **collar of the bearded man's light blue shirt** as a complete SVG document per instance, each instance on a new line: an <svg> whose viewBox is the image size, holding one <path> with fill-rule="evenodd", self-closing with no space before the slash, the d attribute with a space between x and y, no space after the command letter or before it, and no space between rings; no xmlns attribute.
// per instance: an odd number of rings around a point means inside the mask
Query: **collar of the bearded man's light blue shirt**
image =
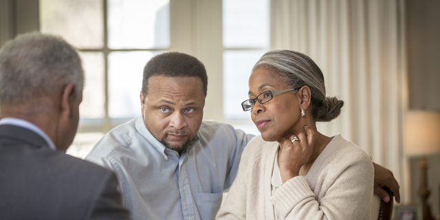
<svg viewBox="0 0 440 220"><path fill-rule="evenodd" d="M162 158L168 161L168 155L166 155L166 150L168 150L168 148L166 148L164 144L159 142L159 140L157 140L157 138L153 136L153 134L151 134L151 132L148 131L148 129L146 129L146 126L144 124L144 115L140 115L139 118L137 118L135 122L135 127L136 127L136 131L138 131L140 135L142 135L142 137L144 137L146 140L151 142L151 145L153 145L157 153L159 153L162 156ZM186 152L189 152L190 149L194 147L195 144L197 144L197 142L199 142L199 132L197 132L197 135L194 138L195 138L194 144L188 147L188 149L186 149ZM182 153L182 155L184 154Z"/></svg>

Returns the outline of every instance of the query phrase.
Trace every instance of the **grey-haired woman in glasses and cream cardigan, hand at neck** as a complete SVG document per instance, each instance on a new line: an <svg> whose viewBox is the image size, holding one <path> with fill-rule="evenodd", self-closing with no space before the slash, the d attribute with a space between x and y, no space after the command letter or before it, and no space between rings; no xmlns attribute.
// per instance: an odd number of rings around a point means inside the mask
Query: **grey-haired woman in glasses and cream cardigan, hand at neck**
<svg viewBox="0 0 440 220"><path fill-rule="evenodd" d="M344 104L325 96L316 63L299 52L267 52L249 88L242 107L261 135L245 148L217 219L370 219L370 157L342 135L316 129Z"/></svg>

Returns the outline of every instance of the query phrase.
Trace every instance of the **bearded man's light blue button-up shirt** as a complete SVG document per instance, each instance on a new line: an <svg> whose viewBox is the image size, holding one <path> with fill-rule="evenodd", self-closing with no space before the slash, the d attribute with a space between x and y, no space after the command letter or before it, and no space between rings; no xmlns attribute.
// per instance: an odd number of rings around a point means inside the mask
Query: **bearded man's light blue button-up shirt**
<svg viewBox="0 0 440 220"><path fill-rule="evenodd" d="M85 159L118 175L133 219L214 219L252 137L203 121L197 142L179 156L146 129L140 115L107 133Z"/></svg>

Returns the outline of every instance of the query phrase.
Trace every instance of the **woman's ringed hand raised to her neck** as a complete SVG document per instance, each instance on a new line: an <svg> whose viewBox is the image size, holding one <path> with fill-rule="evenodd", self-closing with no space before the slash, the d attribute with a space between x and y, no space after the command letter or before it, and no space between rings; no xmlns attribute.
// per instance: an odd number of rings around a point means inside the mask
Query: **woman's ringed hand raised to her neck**
<svg viewBox="0 0 440 220"><path fill-rule="evenodd" d="M307 132L300 132L298 135L292 135L290 140L283 142L283 149L278 157L281 179L283 184L300 173L300 168L309 161L311 153L314 151L315 133L309 126L304 127ZM294 138L298 140L292 142Z"/></svg>

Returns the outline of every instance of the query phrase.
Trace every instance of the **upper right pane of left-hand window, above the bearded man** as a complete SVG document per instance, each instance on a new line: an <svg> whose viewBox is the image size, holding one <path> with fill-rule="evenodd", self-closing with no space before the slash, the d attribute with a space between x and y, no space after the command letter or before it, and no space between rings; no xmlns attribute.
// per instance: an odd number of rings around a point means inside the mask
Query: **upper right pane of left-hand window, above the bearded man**
<svg viewBox="0 0 440 220"><path fill-rule="evenodd" d="M169 0L109 0L109 47L168 48Z"/></svg>

